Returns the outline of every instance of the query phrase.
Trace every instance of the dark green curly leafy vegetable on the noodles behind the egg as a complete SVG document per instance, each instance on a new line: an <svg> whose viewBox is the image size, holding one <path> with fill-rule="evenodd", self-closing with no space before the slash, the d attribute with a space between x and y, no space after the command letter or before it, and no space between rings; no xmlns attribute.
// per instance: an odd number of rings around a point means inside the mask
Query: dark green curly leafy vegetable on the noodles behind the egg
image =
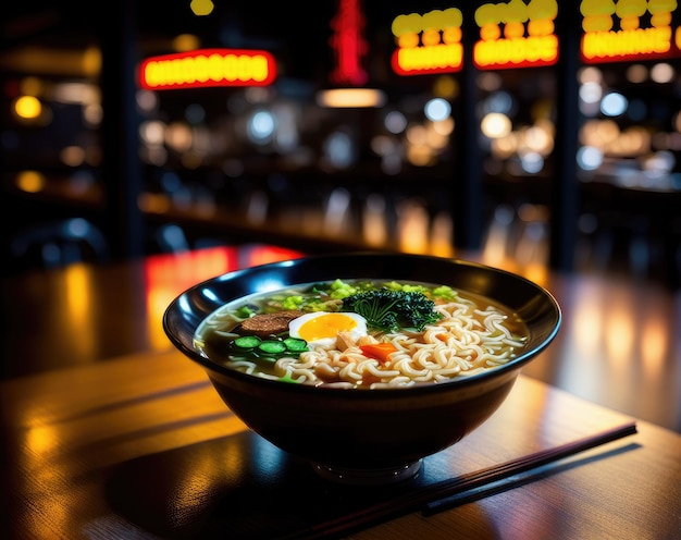
<svg viewBox="0 0 681 540"><path fill-rule="evenodd" d="M442 317L435 311L435 303L421 291L387 287L348 296L343 300L342 310L361 315L369 327L384 332L421 331L425 324L437 322Z"/></svg>

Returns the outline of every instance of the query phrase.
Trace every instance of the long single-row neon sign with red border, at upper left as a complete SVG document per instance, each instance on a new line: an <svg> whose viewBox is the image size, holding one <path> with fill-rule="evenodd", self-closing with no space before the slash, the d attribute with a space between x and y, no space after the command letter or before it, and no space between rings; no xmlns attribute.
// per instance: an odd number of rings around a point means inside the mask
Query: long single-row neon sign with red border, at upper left
<svg viewBox="0 0 681 540"><path fill-rule="evenodd" d="M139 86L148 90L268 86L276 77L276 64L262 50L200 49L148 58L138 76Z"/></svg>

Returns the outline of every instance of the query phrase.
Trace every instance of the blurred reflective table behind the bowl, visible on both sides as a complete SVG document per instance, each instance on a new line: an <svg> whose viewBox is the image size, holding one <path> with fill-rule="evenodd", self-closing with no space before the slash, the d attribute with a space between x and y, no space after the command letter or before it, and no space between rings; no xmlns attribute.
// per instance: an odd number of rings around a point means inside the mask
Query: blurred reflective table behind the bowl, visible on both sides
<svg viewBox="0 0 681 540"><path fill-rule="evenodd" d="M0 378L169 351L161 318L177 294L231 270L299 255L272 245L220 246L2 280ZM558 336L525 375L681 432L681 290L459 257L524 274L558 299Z"/></svg>

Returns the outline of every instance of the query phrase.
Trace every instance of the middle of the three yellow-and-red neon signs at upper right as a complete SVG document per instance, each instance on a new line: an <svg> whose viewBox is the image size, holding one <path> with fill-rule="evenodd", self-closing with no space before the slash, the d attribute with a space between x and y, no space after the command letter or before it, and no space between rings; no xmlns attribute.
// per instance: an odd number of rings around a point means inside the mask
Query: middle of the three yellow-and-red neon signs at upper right
<svg viewBox="0 0 681 540"><path fill-rule="evenodd" d="M558 60L554 33L556 0L486 3L475 10L480 39L473 46L473 63L482 70L553 65Z"/></svg>

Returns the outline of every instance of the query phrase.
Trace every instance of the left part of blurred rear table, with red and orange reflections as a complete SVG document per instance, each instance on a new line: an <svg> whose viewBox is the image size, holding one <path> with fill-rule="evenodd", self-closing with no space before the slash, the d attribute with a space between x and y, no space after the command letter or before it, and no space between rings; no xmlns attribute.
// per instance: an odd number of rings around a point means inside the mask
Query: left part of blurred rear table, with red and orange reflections
<svg viewBox="0 0 681 540"><path fill-rule="evenodd" d="M274 245L216 246L113 263L75 263L2 280L2 378L166 351L163 311L225 272L299 257Z"/></svg>

